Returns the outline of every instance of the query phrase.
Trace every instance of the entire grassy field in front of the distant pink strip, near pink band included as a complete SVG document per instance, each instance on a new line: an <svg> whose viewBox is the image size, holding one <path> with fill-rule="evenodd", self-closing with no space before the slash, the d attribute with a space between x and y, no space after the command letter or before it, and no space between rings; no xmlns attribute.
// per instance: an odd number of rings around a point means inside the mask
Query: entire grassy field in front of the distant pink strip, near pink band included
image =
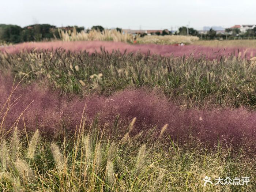
<svg viewBox="0 0 256 192"><path fill-rule="evenodd" d="M0 191L256 191L246 53L40 48L0 52Z"/></svg>

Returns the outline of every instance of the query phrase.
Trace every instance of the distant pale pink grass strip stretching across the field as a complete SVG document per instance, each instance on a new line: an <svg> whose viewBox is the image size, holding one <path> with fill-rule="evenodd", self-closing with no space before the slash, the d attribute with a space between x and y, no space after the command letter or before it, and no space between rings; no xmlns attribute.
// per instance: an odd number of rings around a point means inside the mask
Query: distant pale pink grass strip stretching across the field
<svg viewBox="0 0 256 192"><path fill-rule="evenodd" d="M241 52L241 57L251 59L256 56L256 49L253 48L211 48L197 45L155 45L155 44L127 44L123 42L110 42L110 41L75 41L75 42L27 42L22 44L16 44L12 46L1 47L0 51L8 53L17 53L24 50L35 49L57 49L64 48L65 50L80 51L86 50L87 52L100 52L100 48L104 47L106 51L112 52L112 50L120 50L120 52L138 52L147 54L150 50L151 54L161 54L164 56L189 56L195 57L205 56L207 59L217 59L222 55L238 56Z"/></svg>

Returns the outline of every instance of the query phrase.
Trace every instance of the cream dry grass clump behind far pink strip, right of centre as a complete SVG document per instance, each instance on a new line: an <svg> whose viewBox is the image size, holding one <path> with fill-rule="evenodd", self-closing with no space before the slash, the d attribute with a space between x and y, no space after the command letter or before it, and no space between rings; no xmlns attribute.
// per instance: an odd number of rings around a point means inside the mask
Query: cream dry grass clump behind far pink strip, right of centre
<svg viewBox="0 0 256 192"><path fill-rule="evenodd" d="M161 44L161 45L171 45L171 44L192 44L198 41L199 38L195 36L183 36L183 35L146 35L144 37L138 38L139 44Z"/></svg>

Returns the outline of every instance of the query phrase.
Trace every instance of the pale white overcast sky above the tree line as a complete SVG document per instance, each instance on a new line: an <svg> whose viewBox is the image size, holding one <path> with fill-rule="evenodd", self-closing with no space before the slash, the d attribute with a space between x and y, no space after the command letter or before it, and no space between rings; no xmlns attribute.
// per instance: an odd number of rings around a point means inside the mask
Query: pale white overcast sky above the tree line
<svg viewBox="0 0 256 192"><path fill-rule="evenodd" d="M0 0L0 23L200 30L256 24L256 0Z"/></svg>

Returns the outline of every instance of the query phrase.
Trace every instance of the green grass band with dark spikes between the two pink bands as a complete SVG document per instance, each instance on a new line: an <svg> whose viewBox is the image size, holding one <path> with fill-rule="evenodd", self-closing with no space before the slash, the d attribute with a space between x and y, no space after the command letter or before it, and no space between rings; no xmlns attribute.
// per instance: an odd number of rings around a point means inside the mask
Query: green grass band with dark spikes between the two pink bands
<svg viewBox="0 0 256 192"><path fill-rule="evenodd" d="M92 55L59 50L5 54L0 57L0 70L25 76L26 83L48 83L64 95L111 95L126 88L147 87L174 98L184 108L211 105L255 109L256 60L242 57L223 56L209 61L194 56L110 54L103 49Z"/></svg>

